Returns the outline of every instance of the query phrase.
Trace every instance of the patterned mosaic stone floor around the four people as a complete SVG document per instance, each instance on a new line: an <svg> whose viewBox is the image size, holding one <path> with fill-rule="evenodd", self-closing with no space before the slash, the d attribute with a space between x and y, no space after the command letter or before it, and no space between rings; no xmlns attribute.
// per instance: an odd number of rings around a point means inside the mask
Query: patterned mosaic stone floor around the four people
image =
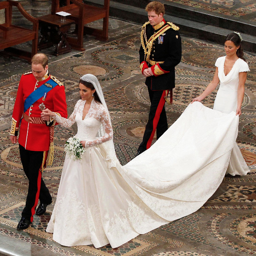
<svg viewBox="0 0 256 256"><path fill-rule="evenodd" d="M182 1L184 3L192 1ZM196 1L197 4L209 1ZM230 7L234 1L210 1L219 7ZM237 1L236 1L237 2ZM245 6L251 1L240 1ZM221 3L223 5L221 5ZM98 24L94 24L97 26ZM110 19L109 41L100 42L85 36L85 52L73 51L54 57L49 55L49 70L65 85L69 114L78 99L78 79L92 72L102 84L114 128L114 142L122 164L133 159L142 140L147 122L149 98L138 66L140 26ZM176 88L172 106L166 106L169 125L183 112L193 97L211 81L215 60L224 55L221 45L182 37L183 58L176 69ZM26 200L28 182L22 171L17 146L9 141L9 126L19 78L30 70L19 59L0 57L0 252L13 255L97 255L97 256L245 256L256 254L256 57L245 57L251 69L245 86L242 116L237 142L251 170L249 175L227 175L216 194L199 211L175 220L123 246L63 247L45 232L55 204L64 162L65 140L76 133L76 127L55 129L54 164L43 177L53 203L33 224L17 231L17 222ZM14 72L15 70L15 72ZM213 107L216 91L204 104ZM8 242L6 242L8 241ZM8 247L9 246L9 247ZM22 249L22 250L21 250ZM23 253L24 252L24 253ZM28 254L29 252L29 254Z"/></svg>

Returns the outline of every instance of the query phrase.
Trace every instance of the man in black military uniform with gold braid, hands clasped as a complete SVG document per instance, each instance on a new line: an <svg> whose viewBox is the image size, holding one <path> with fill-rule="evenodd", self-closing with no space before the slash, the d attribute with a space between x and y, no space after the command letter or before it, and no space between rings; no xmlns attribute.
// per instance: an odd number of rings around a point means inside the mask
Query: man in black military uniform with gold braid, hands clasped
<svg viewBox="0 0 256 256"><path fill-rule="evenodd" d="M175 66L181 60L181 38L179 28L166 22L164 5L150 2L146 6L149 21L142 26L140 47L140 70L146 77L145 84L151 102L149 120L138 148L138 154L151 146L154 133L158 139L167 129L165 102L171 104L175 87ZM167 99L170 91L171 102Z"/></svg>

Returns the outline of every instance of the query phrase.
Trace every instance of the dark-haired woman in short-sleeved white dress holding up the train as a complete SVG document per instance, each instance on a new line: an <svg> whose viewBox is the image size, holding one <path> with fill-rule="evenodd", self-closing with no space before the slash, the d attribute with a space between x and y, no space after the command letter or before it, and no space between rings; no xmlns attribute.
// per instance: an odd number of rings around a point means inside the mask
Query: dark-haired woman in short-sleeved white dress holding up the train
<svg viewBox="0 0 256 256"><path fill-rule="evenodd" d="M248 64L243 58L241 48L242 36L237 33L230 33L225 38L226 56L216 60L216 72L211 83L204 92L194 101L201 101L209 95L220 82L213 109L223 113L236 112L241 115L242 101L244 98L244 83L249 70ZM232 149L227 173L235 175L247 175L249 168L244 161L241 151L237 144Z"/></svg>

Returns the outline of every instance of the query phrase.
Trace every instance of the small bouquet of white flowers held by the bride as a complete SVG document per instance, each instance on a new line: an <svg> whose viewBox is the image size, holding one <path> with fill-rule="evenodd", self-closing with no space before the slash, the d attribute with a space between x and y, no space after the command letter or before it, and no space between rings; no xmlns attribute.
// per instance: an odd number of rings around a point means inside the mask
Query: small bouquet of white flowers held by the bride
<svg viewBox="0 0 256 256"><path fill-rule="evenodd" d="M81 160L82 155L85 152L85 148L80 143L80 140L76 137L70 137L65 144L65 152L69 153L69 157L75 160Z"/></svg>

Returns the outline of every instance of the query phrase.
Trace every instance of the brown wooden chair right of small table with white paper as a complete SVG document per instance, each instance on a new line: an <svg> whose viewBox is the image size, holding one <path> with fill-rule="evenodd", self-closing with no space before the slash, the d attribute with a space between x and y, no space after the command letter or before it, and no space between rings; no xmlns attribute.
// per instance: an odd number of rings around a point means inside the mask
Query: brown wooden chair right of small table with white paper
<svg viewBox="0 0 256 256"><path fill-rule="evenodd" d="M83 35L89 34L96 36L99 40L108 39L108 26L109 26L109 0L104 0L104 6L96 7L86 5L83 0L66 0L66 5L60 7L59 0L52 0L52 14L56 12L68 12L71 15L67 19L71 19L76 23L77 39L68 37L68 42L72 48L77 50L85 50L83 48ZM92 21L103 19L103 28L96 29L85 26Z"/></svg>

